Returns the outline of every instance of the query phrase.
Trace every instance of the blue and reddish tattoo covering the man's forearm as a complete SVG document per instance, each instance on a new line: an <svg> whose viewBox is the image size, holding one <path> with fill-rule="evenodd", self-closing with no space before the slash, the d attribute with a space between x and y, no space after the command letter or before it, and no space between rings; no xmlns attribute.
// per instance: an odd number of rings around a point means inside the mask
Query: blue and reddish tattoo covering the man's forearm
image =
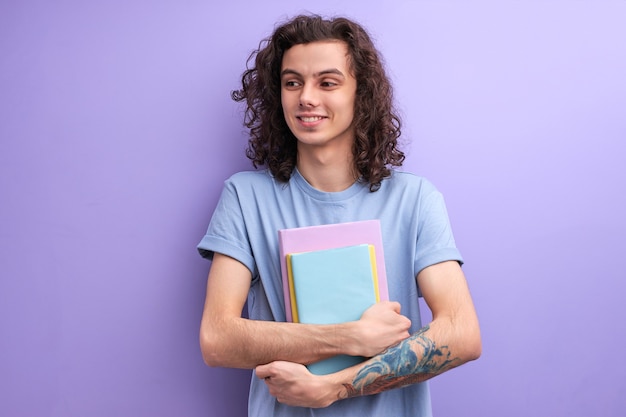
<svg viewBox="0 0 626 417"><path fill-rule="evenodd" d="M428 326L420 329L373 358L357 373L352 384L344 384L346 398L415 384L452 368L459 359L451 356L448 346L437 347L424 336L428 329Z"/></svg>

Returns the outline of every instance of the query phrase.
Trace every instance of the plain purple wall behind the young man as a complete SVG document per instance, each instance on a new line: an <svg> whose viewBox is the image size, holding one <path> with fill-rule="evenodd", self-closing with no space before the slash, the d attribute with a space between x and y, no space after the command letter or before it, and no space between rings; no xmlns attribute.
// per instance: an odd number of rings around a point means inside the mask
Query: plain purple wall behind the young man
<svg viewBox="0 0 626 417"><path fill-rule="evenodd" d="M218 4L219 3L219 4ZM483 357L439 416L623 416L626 1L320 0L376 38ZM229 99L293 1L0 4L0 414L243 416L196 254L249 167Z"/></svg>

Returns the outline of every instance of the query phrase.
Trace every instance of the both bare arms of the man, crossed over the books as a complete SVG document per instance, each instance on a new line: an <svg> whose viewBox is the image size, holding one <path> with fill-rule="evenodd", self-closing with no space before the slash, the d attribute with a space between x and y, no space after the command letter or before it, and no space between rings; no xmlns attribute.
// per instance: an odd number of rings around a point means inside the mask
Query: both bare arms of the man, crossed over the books
<svg viewBox="0 0 626 417"><path fill-rule="evenodd" d="M433 320L412 335L395 302L377 303L360 320L336 325L249 320L241 312L250 271L215 254L200 327L204 360L210 366L255 368L282 403L326 407L424 381L478 358L478 319L458 263L432 265L417 280ZM337 354L370 359L321 376L304 366Z"/></svg>

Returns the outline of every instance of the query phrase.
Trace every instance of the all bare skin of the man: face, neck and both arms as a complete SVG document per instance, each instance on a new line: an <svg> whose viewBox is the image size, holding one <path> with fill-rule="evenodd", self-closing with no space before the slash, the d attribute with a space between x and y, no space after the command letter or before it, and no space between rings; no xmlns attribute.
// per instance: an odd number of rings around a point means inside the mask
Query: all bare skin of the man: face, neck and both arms
<svg viewBox="0 0 626 417"><path fill-rule="evenodd" d="M281 67L285 120L298 140L297 167L322 191L356 180L351 146L356 80L339 41L295 45ZM210 366L255 368L278 401L326 407L429 379L476 359L480 330L465 276L443 262L416 277L432 322L409 335L396 302L377 303L354 322L308 325L241 317L252 276L238 261L215 254L207 283L200 344ZM337 354L371 358L331 375L304 366Z"/></svg>

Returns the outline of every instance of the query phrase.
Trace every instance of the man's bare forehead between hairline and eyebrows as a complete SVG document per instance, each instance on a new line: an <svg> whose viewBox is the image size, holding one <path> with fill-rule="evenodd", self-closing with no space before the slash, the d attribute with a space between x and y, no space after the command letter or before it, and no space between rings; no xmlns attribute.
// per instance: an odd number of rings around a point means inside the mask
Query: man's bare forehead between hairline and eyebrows
<svg viewBox="0 0 626 417"><path fill-rule="evenodd" d="M342 41L318 41L294 45L285 51L281 70L296 70L300 73L336 68L349 73L348 46Z"/></svg>

